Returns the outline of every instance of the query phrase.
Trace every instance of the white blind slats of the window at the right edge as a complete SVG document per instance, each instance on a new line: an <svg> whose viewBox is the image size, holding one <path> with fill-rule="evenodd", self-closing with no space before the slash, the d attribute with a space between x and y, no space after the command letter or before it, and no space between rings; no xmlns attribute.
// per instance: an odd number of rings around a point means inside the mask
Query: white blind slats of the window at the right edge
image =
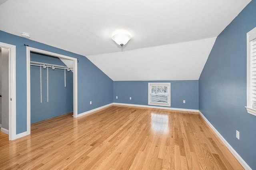
<svg viewBox="0 0 256 170"><path fill-rule="evenodd" d="M256 38L250 41L252 108L256 109Z"/></svg>

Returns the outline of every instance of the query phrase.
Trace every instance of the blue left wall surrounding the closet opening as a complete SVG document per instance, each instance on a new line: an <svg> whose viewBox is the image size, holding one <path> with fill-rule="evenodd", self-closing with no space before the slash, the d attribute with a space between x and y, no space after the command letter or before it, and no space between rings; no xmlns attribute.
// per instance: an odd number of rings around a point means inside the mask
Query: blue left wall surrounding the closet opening
<svg viewBox="0 0 256 170"><path fill-rule="evenodd" d="M113 81L82 55L0 31L0 42L16 45L16 133L26 131L26 46L78 58L78 114L113 102ZM92 101L92 105L90 105Z"/></svg>

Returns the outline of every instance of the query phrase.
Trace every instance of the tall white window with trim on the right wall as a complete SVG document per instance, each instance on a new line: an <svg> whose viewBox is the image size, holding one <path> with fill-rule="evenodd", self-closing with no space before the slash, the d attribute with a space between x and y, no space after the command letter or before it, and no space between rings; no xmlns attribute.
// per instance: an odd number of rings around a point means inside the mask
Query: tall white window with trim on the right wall
<svg viewBox="0 0 256 170"><path fill-rule="evenodd" d="M256 28L247 33L247 112L256 116Z"/></svg>

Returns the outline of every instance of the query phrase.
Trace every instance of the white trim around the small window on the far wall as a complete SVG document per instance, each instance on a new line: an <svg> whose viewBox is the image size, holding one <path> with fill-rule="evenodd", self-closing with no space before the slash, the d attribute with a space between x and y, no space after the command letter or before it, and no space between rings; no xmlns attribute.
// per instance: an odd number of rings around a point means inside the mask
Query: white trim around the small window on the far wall
<svg viewBox="0 0 256 170"><path fill-rule="evenodd" d="M168 86L169 94L168 94L168 103L158 103L150 101L150 85L164 85ZM148 105L156 105L156 106L171 106L171 83L148 83Z"/></svg>

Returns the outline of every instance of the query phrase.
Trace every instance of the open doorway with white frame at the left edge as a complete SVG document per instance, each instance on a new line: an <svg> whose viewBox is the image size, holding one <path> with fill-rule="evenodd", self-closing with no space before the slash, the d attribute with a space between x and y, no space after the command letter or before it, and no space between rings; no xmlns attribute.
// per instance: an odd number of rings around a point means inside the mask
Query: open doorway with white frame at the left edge
<svg viewBox="0 0 256 170"><path fill-rule="evenodd" d="M0 42L1 131L16 139L16 46Z"/></svg>

